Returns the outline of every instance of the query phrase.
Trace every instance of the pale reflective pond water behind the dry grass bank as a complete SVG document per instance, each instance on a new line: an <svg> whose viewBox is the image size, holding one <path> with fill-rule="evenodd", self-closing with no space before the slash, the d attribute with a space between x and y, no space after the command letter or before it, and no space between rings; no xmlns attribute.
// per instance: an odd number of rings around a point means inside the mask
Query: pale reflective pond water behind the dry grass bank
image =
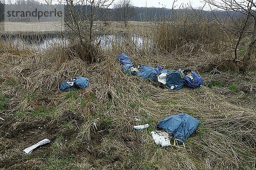
<svg viewBox="0 0 256 170"><path fill-rule="evenodd" d="M60 35L56 34L2 35L1 38L2 40L12 40L18 47L28 46L38 51L46 50L56 45L67 45L69 43L67 38L62 38ZM99 43L98 46L101 48L111 48L113 45L128 45L131 43L137 48L142 48L145 42L148 44L150 41L146 37L125 32L100 35L95 40L95 43Z"/></svg>

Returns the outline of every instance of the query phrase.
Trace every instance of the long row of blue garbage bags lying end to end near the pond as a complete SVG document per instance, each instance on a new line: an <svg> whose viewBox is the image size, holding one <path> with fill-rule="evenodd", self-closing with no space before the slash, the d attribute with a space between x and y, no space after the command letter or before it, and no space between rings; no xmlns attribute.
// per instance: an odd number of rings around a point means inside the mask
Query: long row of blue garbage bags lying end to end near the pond
<svg viewBox="0 0 256 170"><path fill-rule="evenodd" d="M151 79L154 82L161 82L173 90L180 90L183 86L198 88L200 85L204 85L202 77L189 69L169 71L163 69L162 66L153 68L149 65L138 65L135 68L131 59L125 53L117 56L117 60L122 64L124 73L137 75L143 79Z"/></svg>

